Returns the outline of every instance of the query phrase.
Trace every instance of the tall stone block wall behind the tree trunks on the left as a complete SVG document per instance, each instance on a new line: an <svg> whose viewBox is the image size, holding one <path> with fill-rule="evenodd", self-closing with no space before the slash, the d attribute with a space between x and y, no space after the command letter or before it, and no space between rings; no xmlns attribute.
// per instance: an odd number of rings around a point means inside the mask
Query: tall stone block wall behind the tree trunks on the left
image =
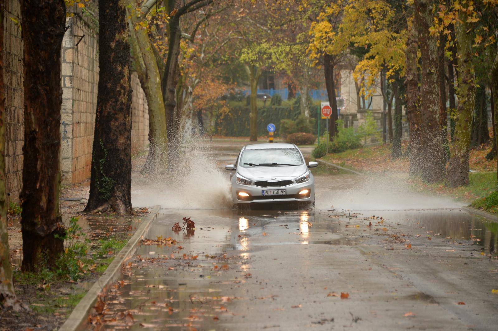
<svg viewBox="0 0 498 331"><path fill-rule="evenodd" d="M92 144L99 81L99 51L95 18L75 7L61 49L61 172L62 182L73 184L90 178ZM6 182L10 200L18 201L22 187L23 45L19 0L5 0L4 84L6 120ZM132 151L148 144L148 108L136 73L132 73Z"/></svg>

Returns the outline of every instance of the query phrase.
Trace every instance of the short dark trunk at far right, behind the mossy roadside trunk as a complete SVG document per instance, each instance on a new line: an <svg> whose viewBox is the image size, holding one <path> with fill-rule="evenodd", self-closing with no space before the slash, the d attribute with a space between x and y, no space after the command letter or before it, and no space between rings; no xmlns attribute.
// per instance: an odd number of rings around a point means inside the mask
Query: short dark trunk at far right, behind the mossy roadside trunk
<svg viewBox="0 0 498 331"><path fill-rule="evenodd" d="M490 140L488 131L488 98L486 96L486 85L481 85L476 90L476 102L474 116L472 119L472 141L471 146L479 146Z"/></svg>

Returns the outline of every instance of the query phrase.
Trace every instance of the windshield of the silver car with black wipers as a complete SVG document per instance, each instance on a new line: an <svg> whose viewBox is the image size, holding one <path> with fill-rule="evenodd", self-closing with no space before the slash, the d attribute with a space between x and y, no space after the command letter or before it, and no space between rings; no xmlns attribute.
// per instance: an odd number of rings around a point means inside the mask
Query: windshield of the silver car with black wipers
<svg viewBox="0 0 498 331"><path fill-rule="evenodd" d="M242 153L241 166L301 165L303 159L297 148L246 149Z"/></svg>

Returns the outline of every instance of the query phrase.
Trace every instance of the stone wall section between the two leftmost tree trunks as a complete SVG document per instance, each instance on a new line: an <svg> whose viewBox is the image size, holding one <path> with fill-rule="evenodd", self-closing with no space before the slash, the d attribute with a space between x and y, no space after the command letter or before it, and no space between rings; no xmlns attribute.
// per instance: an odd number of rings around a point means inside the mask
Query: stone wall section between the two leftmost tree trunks
<svg viewBox="0 0 498 331"><path fill-rule="evenodd" d="M5 0L3 83L5 86L5 176L7 193L17 201L22 187L22 145L24 143L23 44L18 0Z"/></svg>

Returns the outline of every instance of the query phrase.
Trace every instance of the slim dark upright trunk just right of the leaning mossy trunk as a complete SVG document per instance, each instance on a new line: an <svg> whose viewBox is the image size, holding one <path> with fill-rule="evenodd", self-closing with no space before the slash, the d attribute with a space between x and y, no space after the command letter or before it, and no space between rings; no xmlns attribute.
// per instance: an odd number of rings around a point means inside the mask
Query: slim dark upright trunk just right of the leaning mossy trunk
<svg viewBox="0 0 498 331"><path fill-rule="evenodd" d="M180 118L176 116L176 82L178 76L178 56L180 54L180 17L173 16L169 21L168 57L162 79L162 95L166 110L166 129L168 136L168 167L173 166L172 160L178 159L180 141L178 131Z"/></svg>

